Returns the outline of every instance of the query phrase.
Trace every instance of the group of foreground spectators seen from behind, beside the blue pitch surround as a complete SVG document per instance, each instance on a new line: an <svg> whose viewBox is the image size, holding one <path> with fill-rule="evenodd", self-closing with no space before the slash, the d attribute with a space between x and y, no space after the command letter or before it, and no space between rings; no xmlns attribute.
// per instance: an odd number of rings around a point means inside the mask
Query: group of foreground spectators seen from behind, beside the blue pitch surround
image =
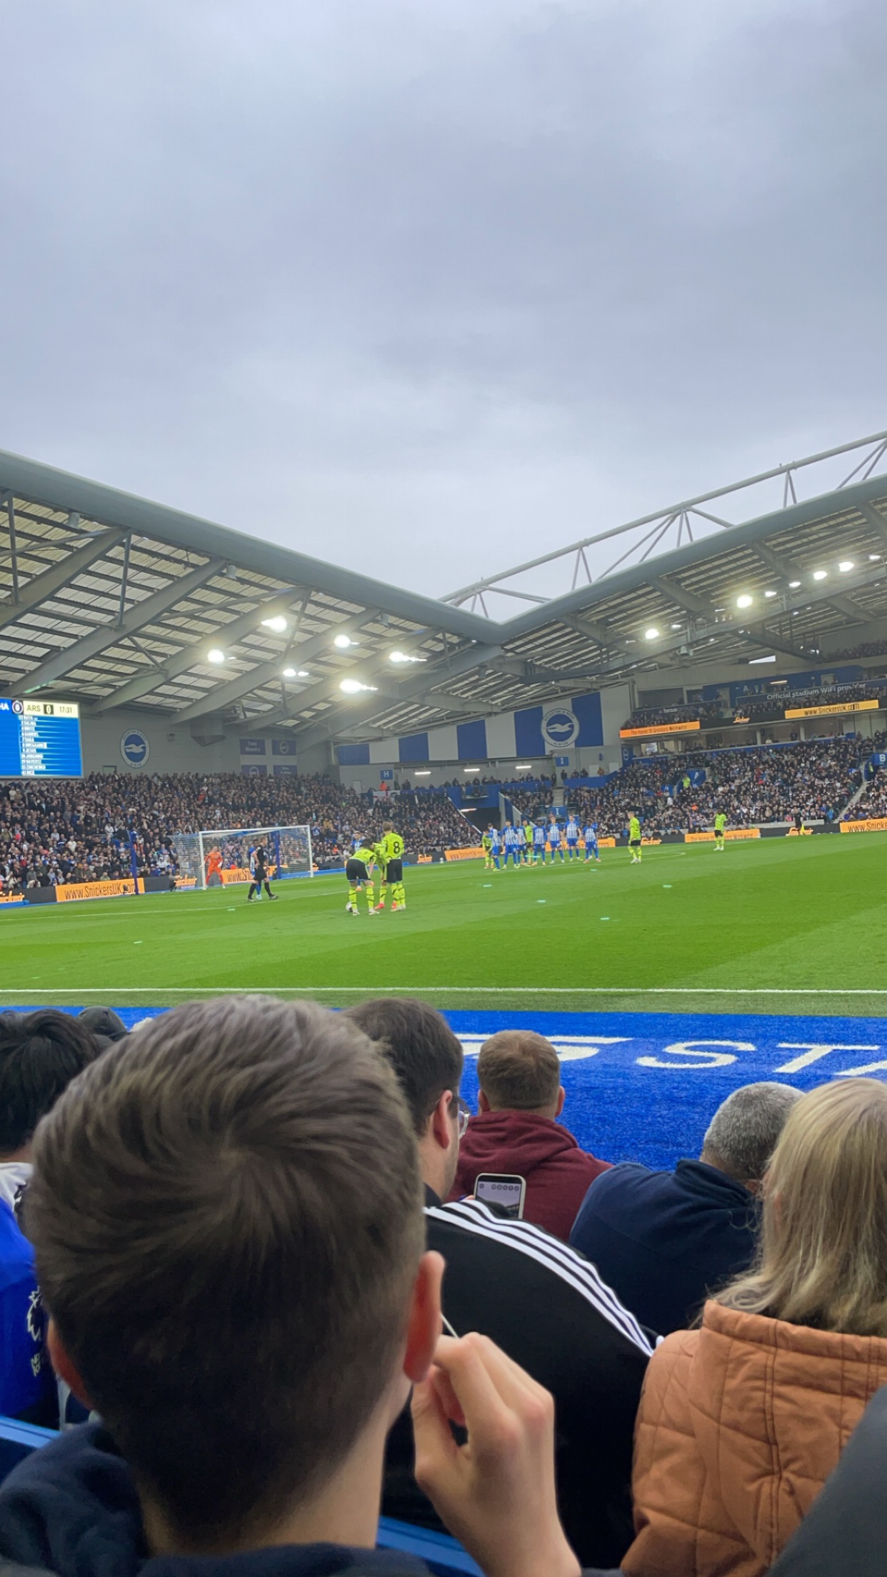
<svg viewBox="0 0 887 1577"><path fill-rule="evenodd" d="M57 1430L3 1571L428 1577L380 1509L485 1577L884 1569L887 1087L745 1085L652 1172L541 1035L473 1115L462 1061L404 998L0 1014L0 1397Z"/></svg>

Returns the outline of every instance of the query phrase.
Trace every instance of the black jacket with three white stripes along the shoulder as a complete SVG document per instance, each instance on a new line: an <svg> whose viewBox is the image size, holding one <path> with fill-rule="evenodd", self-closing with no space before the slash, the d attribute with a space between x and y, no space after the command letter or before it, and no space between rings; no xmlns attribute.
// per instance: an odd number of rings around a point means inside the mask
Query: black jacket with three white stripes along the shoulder
<svg viewBox="0 0 887 1577"><path fill-rule="evenodd" d="M428 1247L447 1260L444 1314L480 1331L556 1402L560 1517L582 1566L619 1566L631 1544L631 1448L650 1344L576 1249L477 1200L442 1205L426 1189ZM388 1440L384 1511L440 1527L412 1476L412 1427Z"/></svg>

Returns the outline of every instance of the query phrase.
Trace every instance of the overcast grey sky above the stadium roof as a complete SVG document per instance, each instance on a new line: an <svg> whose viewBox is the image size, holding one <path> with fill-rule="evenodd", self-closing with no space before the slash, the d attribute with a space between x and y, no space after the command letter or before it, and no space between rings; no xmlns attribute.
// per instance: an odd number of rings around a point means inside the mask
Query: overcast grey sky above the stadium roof
<svg viewBox="0 0 887 1577"><path fill-rule="evenodd" d="M445 595L887 427L882 0L0 24L0 448Z"/></svg>

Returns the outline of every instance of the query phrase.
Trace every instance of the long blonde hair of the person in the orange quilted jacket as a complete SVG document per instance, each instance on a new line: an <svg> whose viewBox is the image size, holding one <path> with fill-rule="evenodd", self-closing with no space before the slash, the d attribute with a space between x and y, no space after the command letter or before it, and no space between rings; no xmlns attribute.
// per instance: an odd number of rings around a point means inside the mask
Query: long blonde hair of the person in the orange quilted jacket
<svg viewBox="0 0 887 1577"><path fill-rule="evenodd" d="M751 1271L729 1309L852 1336L887 1336L887 1087L846 1079L789 1112L764 1187Z"/></svg>

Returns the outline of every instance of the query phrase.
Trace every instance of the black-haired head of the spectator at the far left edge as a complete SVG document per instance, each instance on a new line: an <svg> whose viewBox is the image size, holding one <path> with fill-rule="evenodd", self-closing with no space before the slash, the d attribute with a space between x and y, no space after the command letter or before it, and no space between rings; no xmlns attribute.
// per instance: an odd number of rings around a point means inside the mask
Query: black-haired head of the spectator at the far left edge
<svg viewBox="0 0 887 1577"><path fill-rule="evenodd" d="M99 1050L96 1036L69 1012L0 1012L0 1161L30 1161L41 1117Z"/></svg>

